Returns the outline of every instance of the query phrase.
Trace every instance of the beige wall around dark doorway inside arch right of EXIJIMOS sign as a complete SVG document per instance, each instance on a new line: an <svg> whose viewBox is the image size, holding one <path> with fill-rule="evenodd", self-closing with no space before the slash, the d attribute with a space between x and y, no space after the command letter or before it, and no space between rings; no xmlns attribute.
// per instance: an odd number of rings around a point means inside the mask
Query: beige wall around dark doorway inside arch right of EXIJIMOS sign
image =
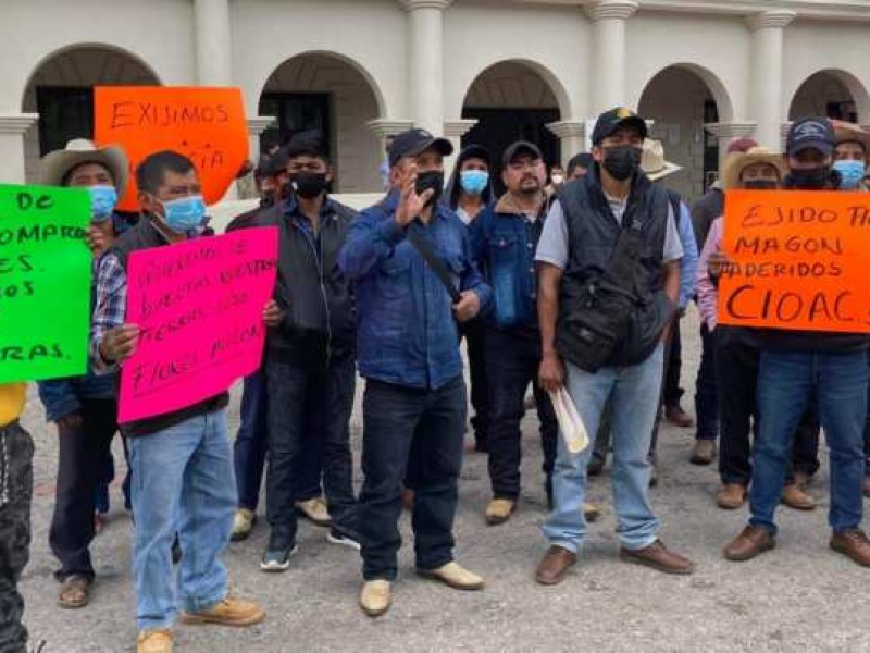
<svg viewBox="0 0 870 653"><path fill-rule="evenodd" d="M378 187L381 145L366 126L377 118L377 102L364 77L350 64L324 54L303 54L281 65L264 90L328 94L336 192Z"/></svg>

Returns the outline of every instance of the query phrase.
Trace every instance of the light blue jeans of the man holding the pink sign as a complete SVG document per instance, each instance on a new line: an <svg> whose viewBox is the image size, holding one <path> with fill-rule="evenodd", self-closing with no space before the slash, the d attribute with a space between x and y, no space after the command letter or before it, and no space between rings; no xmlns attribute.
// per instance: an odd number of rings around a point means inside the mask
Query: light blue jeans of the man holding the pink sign
<svg viewBox="0 0 870 653"><path fill-rule="evenodd" d="M221 555L229 542L236 484L226 416L216 410L129 439L133 572L140 630L170 628L178 614L209 609L226 595ZM172 567L175 532L184 555Z"/></svg>

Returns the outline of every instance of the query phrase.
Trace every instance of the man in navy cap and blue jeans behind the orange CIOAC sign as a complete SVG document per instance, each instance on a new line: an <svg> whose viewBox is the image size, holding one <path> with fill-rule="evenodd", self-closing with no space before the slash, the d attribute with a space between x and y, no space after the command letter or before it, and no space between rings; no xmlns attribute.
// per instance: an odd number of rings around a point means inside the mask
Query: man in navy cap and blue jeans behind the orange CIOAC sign
<svg viewBox="0 0 870 653"><path fill-rule="evenodd" d="M835 190L835 134L825 118L795 122L786 140L785 187ZM760 336L758 410L748 526L724 550L730 560L748 560L775 546L774 514L783 493L795 429L810 402L817 407L831 449L830 547L870 566L863 515L863 428L868 401L868 346L860 333L769 330Z"/></svg>

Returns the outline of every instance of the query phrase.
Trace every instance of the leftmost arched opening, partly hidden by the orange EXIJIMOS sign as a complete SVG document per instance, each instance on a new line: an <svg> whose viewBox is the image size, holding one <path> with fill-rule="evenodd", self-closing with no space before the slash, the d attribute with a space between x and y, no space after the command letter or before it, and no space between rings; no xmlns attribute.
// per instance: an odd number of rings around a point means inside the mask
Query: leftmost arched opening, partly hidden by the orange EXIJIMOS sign
<svg viewBox="0 0 870 653"><path fill-rule="evenodd" d="M37 128L24 139L27 180L35 178L40 157L73 138L94 136L95 86L159 84L145 62L112 46L71 46L42 60L22 98L25 113L39 114Z"/></svg>

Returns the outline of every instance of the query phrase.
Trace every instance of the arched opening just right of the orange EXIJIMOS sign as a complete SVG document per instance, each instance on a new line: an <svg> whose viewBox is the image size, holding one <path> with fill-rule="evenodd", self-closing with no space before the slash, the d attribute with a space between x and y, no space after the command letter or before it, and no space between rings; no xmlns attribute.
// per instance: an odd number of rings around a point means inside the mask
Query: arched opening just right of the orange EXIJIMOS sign
<svg viewBox="0 0 870 653"><path fill-rule="evenodd" d="M260 95L259 114L275 118L261 150L299 134L316 137L335 168L335 192L380 190L383 155L368 123L382 108L380 90L355 62L332 52L298 54L275 69Z"/></svg>

